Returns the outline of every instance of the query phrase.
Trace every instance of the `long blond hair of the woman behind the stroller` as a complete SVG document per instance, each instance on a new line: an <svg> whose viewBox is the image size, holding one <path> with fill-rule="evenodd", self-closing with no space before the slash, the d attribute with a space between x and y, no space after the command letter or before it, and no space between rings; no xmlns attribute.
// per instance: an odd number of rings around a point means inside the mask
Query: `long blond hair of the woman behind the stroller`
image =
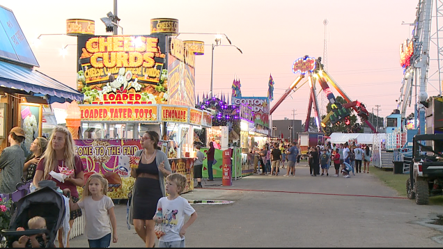
<svg viewBox="0 0 443 249"><path fill-rule="evenodd" d="M51 138L49 138L47 149L45 151L45 155L43 156L45 159L45 172L43 174L43 179L47 179L47 177L49 177L49 172L52 170L55 172L56 166L59 164L59 161L56 159L55 150L52 147L52 141L54 140L54 136L57 131L65 134L65 153L63 154L63 159L65 159L64 166L68 167L70 170L75 169L75 143L72 139L72 135L65 127L55 127L52 130Z"/></svg>

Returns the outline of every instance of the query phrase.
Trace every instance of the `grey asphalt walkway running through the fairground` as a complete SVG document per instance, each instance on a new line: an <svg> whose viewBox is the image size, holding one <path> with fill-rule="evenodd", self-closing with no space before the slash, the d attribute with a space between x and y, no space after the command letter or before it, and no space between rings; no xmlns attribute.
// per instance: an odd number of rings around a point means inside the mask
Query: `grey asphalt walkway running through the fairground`
<svg viewBox="0 0 443 249"><path fill-rule="evenodd" d="M281 173L286 172L281 171ZM391 173L391 172L387 172ZM419 206L399 198L371 174L355 177L252 175L221 186L185 193L188 200L232 200L233 204L195 204L199 218L186 234L187 247L442 247L443 230L415 222L443 214L441 206ZM332 173L334 175L334 173ZM116 205L119 241L111 247L143 247L127 230L126 206ZM87 247L84 236L70 241Z"/></svg>

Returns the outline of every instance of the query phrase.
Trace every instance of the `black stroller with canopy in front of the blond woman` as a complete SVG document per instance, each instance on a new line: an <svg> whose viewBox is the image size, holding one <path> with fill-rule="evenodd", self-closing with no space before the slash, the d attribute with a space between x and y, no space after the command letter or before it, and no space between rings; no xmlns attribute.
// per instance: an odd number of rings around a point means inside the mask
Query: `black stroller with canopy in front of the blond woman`
<svg viewBox="0 0 443 249"><path fill-rule="evenodd" d="M42 181L47 182L47 181ZM42 186L40 182L40 186ZM52 182L52 181L50 181ZM14 241L18 241L20 236L31 236L35 234L46 234L46 247L55 247L54 241L59 227L65 217L65 200L63 195L56 191L54 187L44 186L38 188L33 193L24 196L15 202L16 209L9 224L9 230L2 230L6 237L6 246L12 247ZM28 220L34 216L41 216L46 220L46 230L28 229ZM16 231L17 227L24 227L24 231Z"/></svg>

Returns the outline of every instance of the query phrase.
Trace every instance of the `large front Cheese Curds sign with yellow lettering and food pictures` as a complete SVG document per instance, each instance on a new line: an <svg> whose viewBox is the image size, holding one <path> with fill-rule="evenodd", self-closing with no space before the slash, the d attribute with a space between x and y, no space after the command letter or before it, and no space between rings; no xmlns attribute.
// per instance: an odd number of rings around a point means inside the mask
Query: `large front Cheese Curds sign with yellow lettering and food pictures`
<svg viewBox="0 0 443 249"><path fill-rule="evenodd" d="M85 104L166 104L165 35L79 35L77 44Z"/></svg>

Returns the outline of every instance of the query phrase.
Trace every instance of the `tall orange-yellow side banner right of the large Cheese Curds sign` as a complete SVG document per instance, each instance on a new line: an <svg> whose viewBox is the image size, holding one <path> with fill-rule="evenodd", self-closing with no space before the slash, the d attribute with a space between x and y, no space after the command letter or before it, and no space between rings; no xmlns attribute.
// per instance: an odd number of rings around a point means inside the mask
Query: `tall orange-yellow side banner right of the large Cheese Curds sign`
<svg viewBox="0 0 443 249"><path fill-rule="evenodd" d="M182 40L170 38L168 54L168 104L195 106L195 55Z"/></svg>

